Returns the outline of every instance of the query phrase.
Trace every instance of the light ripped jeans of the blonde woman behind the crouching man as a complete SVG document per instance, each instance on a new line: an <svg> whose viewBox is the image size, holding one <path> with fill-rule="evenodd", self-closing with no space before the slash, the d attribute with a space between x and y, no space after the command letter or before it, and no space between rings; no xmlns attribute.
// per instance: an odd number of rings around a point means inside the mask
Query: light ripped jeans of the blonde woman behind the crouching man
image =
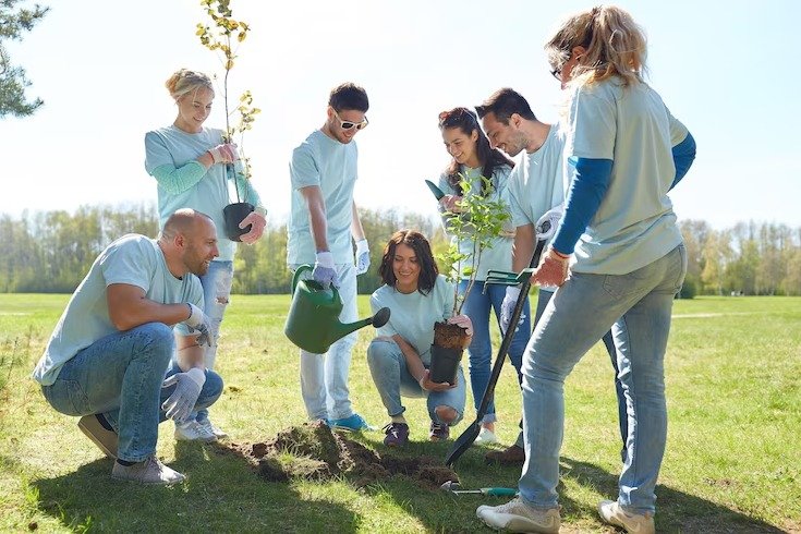
<svg viewBox="0 0 801 534"><path fill-rule="evenodd" d="M231 300L233 284L233 262L214 260L208 271L201 278L203 286L203 312L209 319L208 331L211 335L211 347L206 347L206 368L213 371L217 360L217 345L220 339L220 324ZM197 421L208 418L208 410L201 410L194 415Z"/></svg>

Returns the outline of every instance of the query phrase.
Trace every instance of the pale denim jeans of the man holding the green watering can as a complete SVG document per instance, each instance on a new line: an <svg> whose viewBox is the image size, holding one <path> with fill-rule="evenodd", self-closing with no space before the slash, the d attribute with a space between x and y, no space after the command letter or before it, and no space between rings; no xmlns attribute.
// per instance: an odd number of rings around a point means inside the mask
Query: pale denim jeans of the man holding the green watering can
<svg viewBox="0 0 801 534"><path fill-rule="evenodd" d="M300 265L291 265L298 270ZM342 312L339 320L353 323L359 318L356 308L356 268L353 264L338 264L339 296ZM305 278L311 278L307 272ZM337 340L325 354L301 350L301 395L306 413L315 420L338 420L353 415L348 374L351 366L351 350L356 344L357 332Z"/></svg>

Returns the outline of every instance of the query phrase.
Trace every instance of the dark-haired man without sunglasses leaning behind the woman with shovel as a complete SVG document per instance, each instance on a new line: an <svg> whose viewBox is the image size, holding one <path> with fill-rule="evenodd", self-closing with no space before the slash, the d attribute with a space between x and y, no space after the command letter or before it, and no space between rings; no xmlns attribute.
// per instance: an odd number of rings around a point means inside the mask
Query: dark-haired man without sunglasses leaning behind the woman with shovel
<svg viewBox="0 0 801 534"><path fill-rule="evenodd" d="M512 213L512 224L515 228L512 247L512 269L514 272L529 267L536 242L535 223L547 219L558 224L561 206L565 203L567 185L562 173L562 149L565 136L559 128L537 120L529 101L518 92L505 87L495 92L484 104L476 106L484 131L493 147L500 148L512 157L521 154L518 165L509 177L509 203ZM534 324L545 311L545 306L554 295L556 287L541 286L537 292L537 307ZM501 330L509 327L509 319L514 303L520 294L518 286L510 286L501 303ZM520 329L529 329L522 323ZM604 344L615 368L615 385L618 395L618 415L620 436L626 449L626 399L618 379L617 355L611 340L611 332L604 335ZM519 375L520 377L520 375ZM489 451L487 461L503 464L522 465L525 460L523 450L523 432L517 441L502 451Z"/></svg>

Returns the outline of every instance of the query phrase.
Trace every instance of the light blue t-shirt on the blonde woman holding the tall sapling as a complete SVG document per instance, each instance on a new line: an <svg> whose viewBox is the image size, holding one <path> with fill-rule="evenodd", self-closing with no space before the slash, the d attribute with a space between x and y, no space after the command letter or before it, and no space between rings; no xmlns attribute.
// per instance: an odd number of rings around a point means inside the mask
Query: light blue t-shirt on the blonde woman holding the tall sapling
<svg viewBox="0 0 801 534"><path fill-rule="evenodd" d="M174 125L147 132L145 135L145 169L148 174L154 175L159 168L172 170L192 165L198 167L198 172L203 172L203 165L196 159L220 143L222 143L222 131L210 128L204 128L196 134L186 133ZM256 206L259 204L258 194L250 180L245 180L241 172L241 163L238 162L235 174L240 198ZM232 260L236 252L236 243L226 236L222 215L222 208L231 202L236 202L233 191L229 196L230 183L226 166L215 163L205 171L197 183L181 193L170 193L158 184L159 227L163 228L167 219L177 209L192 208L202 211L211 217L217 227L217 247L220 252L217 259Z"/></svg>

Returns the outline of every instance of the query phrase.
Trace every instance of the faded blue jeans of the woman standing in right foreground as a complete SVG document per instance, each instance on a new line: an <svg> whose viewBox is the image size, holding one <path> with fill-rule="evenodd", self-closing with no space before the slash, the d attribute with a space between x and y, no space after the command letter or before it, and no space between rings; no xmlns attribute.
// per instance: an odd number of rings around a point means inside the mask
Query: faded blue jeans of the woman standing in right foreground
<svg viewBox="0 0 801 534"><path fill-rule="evenodd" d="M618 502L639 513L655 510L667 438L664 359L673 296L685 272L679 245L627 275L573 272L554 294L523 359L523 501L557 506L565 378L611 327L628 415Z"/></svg>

